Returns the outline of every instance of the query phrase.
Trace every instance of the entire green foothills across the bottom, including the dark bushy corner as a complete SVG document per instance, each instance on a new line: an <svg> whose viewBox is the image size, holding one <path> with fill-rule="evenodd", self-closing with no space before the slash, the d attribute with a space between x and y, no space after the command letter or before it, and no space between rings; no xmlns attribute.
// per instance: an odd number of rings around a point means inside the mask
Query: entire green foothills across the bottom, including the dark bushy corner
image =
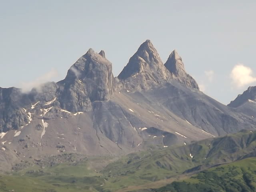
<svg viewBox="0 0 256 192"><path fill-rule="evenodd" d="M2 175L0 191L142 191L168 184L156 190L250 192L255 191L255 148L256 132L242 131L190 145L129 154L112 163L112 159L85 158L76 163L34 165ZM103 169L95 168L102 161L110 163ZM169 184L172 178L187 179Z"/></svg>

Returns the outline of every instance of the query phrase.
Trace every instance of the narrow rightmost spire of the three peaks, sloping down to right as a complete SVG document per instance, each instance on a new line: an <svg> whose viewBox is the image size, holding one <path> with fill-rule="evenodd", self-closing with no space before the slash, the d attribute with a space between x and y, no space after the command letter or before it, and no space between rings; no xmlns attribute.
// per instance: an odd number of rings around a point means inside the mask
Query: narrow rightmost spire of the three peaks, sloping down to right
<svg viewBox="0 0 256 192"><path fill-rule="evenodd" d="M170 71L173 79L178 80L178 82L187 87L199 90L196 80L186 73L182 58L176 50L172 51L164 66Z"/></svg>

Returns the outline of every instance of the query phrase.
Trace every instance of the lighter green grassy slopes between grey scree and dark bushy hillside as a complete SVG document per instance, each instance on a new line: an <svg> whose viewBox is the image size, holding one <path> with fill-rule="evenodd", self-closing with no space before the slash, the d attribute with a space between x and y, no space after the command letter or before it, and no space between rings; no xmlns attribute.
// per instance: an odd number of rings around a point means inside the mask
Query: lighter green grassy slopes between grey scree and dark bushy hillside
<svg viewBox="0 0 256 192"><path fill-rule="evenodd" d="M244 156L255 156L256 132L239 132L211 138L186 146L148 150L129 154L110 163L102 172L94 171L96 159L52 167L29 167L13 175L0 177L0 191L124 191L128 186L164 186L184 171L197 171L215 164L232 162ZM193 158L190 157L190 153ZM98 160L100 161L100 160ZM22 177L21 177L22 176ZM182 178L186 176L182 174ZM158 181L158 182L157 182ZM163 181L163 182L162 182ZM143 188L144 188L143 187Z"/></svg>

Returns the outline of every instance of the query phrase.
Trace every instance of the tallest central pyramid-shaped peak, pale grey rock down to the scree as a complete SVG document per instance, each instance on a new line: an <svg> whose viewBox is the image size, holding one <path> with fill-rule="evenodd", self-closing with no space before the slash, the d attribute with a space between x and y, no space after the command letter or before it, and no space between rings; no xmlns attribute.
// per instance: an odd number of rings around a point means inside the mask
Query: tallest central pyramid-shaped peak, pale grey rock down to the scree
<svg viewBox="0 0 256 192"><path fill-rule="evenodd" d="M146 40L130 58L118 79L124 80L127 89L147 90L170 81L170 73L164 67L153 44Z"/></svg>

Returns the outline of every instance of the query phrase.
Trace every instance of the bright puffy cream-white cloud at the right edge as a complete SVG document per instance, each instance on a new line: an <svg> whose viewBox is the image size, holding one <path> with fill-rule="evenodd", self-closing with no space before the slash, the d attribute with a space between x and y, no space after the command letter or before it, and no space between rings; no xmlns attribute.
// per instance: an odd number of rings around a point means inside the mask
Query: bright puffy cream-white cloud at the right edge
<svg viewBox="0 0 256 192"><path fill-rule="evenodd" d="M232 83L237 87L242 87L250 83L256 82L256 77L252 76L253 72L250 67L243 64L237 64L231 71L230 78Z"/></svg>

